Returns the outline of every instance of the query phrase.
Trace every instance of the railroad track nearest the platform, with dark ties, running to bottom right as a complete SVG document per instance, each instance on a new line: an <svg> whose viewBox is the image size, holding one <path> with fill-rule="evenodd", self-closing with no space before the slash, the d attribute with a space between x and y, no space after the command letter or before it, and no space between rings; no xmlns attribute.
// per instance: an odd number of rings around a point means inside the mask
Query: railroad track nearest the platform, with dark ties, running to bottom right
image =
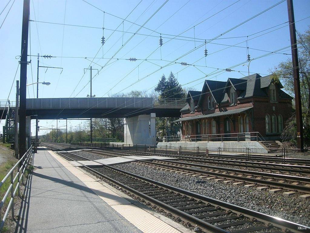
<svg viewBox="0 0 310 233"><path fill-rule="evenodd" d="M62 150L51 144L44 145L53 150ZM77 161L74 159L76 157L85 159L77 154L67 153L69 155L59 154L73 161ZM211 199L108 165L98 168L101 172L85 165L83 167L134 194L138 199L156 206L159 210L165 210L185 224L197 226L204 232L310 232L309 228L300 224Z"/></svg>

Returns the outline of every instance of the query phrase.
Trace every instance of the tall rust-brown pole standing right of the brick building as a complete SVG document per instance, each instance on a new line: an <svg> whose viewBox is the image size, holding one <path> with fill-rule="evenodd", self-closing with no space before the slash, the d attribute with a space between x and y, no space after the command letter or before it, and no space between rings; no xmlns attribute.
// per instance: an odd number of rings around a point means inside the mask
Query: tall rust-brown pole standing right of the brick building
<svg viewBox="0 0 310 233"><path fill-rule="evenodd" d="M293 0L286 0L287 12L290 27L290 41L292 48L292 63L294 75L294 91L295 91L295 108L296 108L296 126L297 126L297 148L300 152L303 151L303 119L301 112L301 94L300 94L300 81L299 81L299 65L297 53L297 40L294 19Z"/></svg>

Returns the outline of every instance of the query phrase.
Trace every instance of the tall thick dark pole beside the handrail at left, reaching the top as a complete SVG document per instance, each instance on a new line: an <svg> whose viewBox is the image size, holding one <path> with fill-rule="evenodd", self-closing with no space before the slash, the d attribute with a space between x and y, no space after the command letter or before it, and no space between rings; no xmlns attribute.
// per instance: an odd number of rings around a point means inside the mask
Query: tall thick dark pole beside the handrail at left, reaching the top
<svg viewBox="0 0 310 233"><path fill-rule="evenodd" d="M26 85L30 0L24 0L20 54L19 158L26 152Z"/></svg>

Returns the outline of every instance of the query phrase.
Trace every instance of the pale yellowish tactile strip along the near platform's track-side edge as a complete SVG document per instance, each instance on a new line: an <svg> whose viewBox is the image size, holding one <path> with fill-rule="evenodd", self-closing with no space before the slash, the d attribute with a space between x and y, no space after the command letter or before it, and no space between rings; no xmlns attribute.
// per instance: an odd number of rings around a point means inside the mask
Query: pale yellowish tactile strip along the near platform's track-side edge
<svg viewBox="0 0 310 233"><path fill-rule="evenodd" d="M117 194L114 188L102 181L95 180L83 170L73 167L72 164L61 158L53 151L48 151L58 162L66 167L73 175L78 177L87 187L89 187L95 194L111 206L116 212L121 214L126 220L131 222L139 230L144 233L190 233L184 226L173 222L167 217L162 216L146 207L139 207L141 205L135 204L133 199L130 200ZM120 192L120 191L118 191Z"/></svg>

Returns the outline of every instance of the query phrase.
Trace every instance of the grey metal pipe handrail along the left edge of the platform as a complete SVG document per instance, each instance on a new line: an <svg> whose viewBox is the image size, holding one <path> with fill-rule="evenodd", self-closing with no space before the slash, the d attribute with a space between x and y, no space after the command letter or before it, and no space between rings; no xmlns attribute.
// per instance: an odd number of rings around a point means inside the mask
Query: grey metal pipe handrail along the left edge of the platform
<svg viewBox="0 0 310 233"><path fill-rule="evenodd" d="M12 211L12 218L14 218L14 197L16 195L16 192L18 192L18 196L20 197L20 181L22 183L24 183L24 173L26 171L26 168L29 166L29 160L33 158L33 147L31 146L26 153L24 153L23 157L20 158L20 160L18 160L18 162L11 168L11 170L7 173L7 175L3 178L3 180L0 182L0 188L2 187L2 185L4 184L4 182L11 176L11 185L9 186L9 188L7 189L6 193L4 194L3 199L0 202L0 212L4 206L5 201L7 200L10 192L11 192L11 199L10 202L7 206L7 209L4 213L4 216L1 220L0 223L0 231L2 231L2 228L4 226L5 220L7 219L7 216L10 212L10 209ZM20 167L20 162L22 162L22 165ZM15 175L15 177L13 177L13 173L15 168L18 167L18 171ZM17 184L16 187L14 189L14 183L17 180Z"/></svg>

